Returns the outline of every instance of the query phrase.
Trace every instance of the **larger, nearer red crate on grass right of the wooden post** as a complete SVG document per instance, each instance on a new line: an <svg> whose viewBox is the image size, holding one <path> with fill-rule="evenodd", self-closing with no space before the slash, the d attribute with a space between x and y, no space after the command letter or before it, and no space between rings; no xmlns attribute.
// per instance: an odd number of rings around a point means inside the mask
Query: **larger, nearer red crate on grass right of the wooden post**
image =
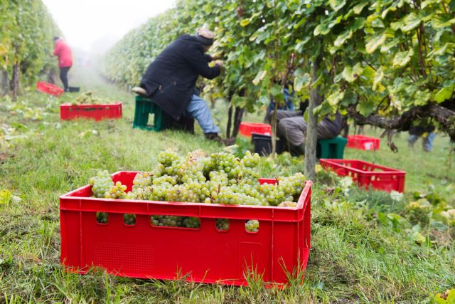
<svg viewBox="0 0 455 304"><path fill-rule="evenodd" d="M405 190L405 171L357 159L319 159L319 164L325 169L333 169L341 177L352 177L354 182L363 187L387 192Z"/></svg>

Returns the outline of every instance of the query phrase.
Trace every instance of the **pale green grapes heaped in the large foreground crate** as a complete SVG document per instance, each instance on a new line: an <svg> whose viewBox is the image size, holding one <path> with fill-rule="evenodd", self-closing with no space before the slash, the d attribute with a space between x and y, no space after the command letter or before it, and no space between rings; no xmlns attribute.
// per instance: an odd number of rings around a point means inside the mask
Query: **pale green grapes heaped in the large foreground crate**
<svg viewBox="0 0 455 304"><path fill-rule="evenodd" d="M159 164L151 172L134 177L132 191L121 182L114 184L107 171L90 179L92 194L106 199L184 201L205 204L295 207L305 184L304 175L277 177L276 184L259 184L259 154L247 152L240 159L228 152L205 154L196 150L185 157L173 150L160 152ZM156 216L155 226L198 228L197 218ZM245 227L255 232L259 222L247 221ZM228 230L228 221L217 221L219 230Z"/></svg>

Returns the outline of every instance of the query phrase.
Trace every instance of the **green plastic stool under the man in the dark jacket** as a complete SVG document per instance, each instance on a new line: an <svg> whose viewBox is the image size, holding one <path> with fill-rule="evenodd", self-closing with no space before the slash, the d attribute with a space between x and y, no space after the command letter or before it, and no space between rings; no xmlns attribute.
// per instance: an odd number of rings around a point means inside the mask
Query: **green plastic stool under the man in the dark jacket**
<svg viewBox="0 0 455 304"><path fill-rule="evenodd" d="M149 114L154 115L154 125L148 125ZM171 120L171 116L167 115L158 105L155 105L150 98L136 96L134 128L159 132L165 130L170 125Z"/></svg>

